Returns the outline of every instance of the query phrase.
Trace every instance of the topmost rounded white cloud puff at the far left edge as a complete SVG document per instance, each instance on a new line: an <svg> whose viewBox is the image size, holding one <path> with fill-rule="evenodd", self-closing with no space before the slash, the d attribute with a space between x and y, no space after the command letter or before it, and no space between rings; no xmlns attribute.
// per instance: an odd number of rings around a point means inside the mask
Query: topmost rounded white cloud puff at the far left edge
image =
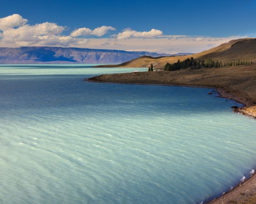
<svg viewBox="0 0 256 204"><path fill-rule="evenodd" d="M13 14L4 18L0 18L0 30L6 28L13 28L18 26L24 26L28 20L21 17L19 14Z"/></svg>

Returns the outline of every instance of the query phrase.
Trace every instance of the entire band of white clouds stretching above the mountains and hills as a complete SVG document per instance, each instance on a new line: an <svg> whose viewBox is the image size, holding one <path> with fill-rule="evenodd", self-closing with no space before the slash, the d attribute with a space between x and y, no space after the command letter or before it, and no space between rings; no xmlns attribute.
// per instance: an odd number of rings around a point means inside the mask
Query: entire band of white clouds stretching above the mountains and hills
<svg viewBox="0 0 256 204"><path fill-rule="evenodd" d="M111 33L110 33L111 31ZM78 28L68 32L67 26L57 23L30 25L19 14L0 18L0 47L20 46L63 46L79 48L140 50L173 54L177 52L197 53L230 40L247 36L208 37L187 35L164 35L162 31L135 31L126 28L121 32L112 26L95 29ZM103 37L104 35L108 37Z"/></svg>

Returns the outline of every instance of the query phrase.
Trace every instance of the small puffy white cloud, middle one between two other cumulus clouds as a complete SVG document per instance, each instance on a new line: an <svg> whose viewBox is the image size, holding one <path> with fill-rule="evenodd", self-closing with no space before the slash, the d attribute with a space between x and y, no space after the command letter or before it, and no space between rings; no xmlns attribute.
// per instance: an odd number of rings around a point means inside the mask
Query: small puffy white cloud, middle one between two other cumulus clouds
<svg viewBox="0 0 256 204"><path fill-rule="evenodd" d="M95 28L94 30L91 30L90 28L79 28L74 30L70 36L78 37L83 35L96 35L96 36L102 36L105 35L108 31L115 31L116 28L113 28L111 26L101 26L98 28Z"/></svg>

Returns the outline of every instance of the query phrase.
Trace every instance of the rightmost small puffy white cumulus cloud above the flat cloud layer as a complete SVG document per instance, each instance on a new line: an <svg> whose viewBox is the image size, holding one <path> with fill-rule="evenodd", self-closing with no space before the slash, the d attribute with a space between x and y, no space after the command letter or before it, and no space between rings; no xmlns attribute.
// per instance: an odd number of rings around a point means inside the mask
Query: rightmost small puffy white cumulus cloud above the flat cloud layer
<svg viewBox="0 0 256 204"><path fill-rule="evenodd" d="M160 30L156 30L156 29L151 29L151 31L143 31L143 32L138 32L138 31L134 31L131 29L126 29L125 31L117 34L117 39L121 40L121 39L126 39L126 38L154 38L154 37L158 37L163 35L163 32Z"/></svg>

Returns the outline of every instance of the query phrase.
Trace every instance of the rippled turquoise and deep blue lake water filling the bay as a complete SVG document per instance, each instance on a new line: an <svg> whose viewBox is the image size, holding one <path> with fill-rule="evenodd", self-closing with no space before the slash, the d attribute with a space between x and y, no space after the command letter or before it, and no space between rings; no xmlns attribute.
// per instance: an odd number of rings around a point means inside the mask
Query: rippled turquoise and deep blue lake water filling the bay
<svg viewBox="0 0 256 204"><path fill-rule="evenodd" d="M256 120L236 102L84 82L138 70L90 66L0 65L0 204L196 204L250 176Z"/></svg>

